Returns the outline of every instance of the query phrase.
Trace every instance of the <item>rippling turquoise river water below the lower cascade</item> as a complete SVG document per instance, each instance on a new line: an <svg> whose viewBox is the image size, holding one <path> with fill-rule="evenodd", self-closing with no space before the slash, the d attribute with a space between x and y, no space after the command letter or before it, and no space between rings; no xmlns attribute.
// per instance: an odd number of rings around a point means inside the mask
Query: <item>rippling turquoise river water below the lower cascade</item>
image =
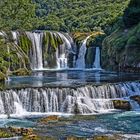
<svg viewBox="0 0 140 140"><path fill-rule="evenodd" d="M97 116L69 116L60 121L41 125L39 118L0 119L1 127L32 127L43 136L90 138L104 134L139 134L140 112L120 112Z"/></svg>

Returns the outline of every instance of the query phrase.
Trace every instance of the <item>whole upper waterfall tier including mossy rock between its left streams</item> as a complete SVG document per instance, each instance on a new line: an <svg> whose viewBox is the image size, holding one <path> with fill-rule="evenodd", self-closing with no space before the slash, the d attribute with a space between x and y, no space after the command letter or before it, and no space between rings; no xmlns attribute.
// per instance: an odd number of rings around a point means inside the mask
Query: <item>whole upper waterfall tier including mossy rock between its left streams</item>
<svg viewBox="0 0 140 140"><path fill-rule="evenodd" d="M46 40L50 39L49 40L50 42L48 41L49 43L47 44L46 43L47 41L45 40L46 46L48 45L47 47L44 45L44 36L46 35L46 32L41 31L25 32L26 33L25 34L18 31L12 31L11 33L13 36L14 43L17 46L20 45L21 41L20 36L25 38L27 37L31 41L32 45L29 46L29 48L31 47L31 49L29 50L28 57L30 60L30 67L32 70L45 70L51 68L52 69L86 68L86 60L87 60L86 44L87 40L90 38L91 35L86 37L86 39L83 41L78 53L76 43L68 33L51 32L51 31L48 32L50 33L50 35L47 34L48 36L46 37ZM3 31L0 32L0 35L5 37L7 36L6 32ZM62 40L63 44L60 43L61 42L60 40ZM91 61L90 68L92 67L92 63L93 62ZM96 69L101 69L99 47L96 47L95 62L93 63L93 67Z"/></svg>

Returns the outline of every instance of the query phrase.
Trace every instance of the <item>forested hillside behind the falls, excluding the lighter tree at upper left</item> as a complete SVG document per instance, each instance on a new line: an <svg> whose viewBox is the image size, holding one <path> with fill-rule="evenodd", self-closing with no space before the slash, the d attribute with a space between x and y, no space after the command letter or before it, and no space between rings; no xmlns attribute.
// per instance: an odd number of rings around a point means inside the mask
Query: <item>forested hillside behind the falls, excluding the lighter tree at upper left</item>
<svg viewBox="0 0 140 140"><path fill-rule="evenodd" d="M65 32L93 31L112 26L129 0L34 0L36 15L44 20L40 29Z"/></svg>

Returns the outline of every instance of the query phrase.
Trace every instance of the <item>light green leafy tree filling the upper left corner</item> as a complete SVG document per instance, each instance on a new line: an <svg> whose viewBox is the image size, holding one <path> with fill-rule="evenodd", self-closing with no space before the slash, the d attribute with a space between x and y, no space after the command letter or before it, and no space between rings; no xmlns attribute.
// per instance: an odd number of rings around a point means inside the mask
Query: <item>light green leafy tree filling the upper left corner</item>
<svg viewBox="0 0 140 140"><path fill-rule="evenodd" d="M36 21L36 22L35 22ZM33 29L38 21L35 16L35 4L31 0L0 1L0 29Z"/></svg>

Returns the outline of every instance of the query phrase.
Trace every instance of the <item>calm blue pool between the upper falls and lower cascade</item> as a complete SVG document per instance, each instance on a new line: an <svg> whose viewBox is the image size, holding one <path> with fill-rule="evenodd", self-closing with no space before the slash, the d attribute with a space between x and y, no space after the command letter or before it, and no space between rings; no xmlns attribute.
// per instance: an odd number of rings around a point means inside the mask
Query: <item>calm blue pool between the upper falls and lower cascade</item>
<svg viewBox="0 0 140 140"><path fill-rule="evenodd" d="M5 86L14 87L70 87L140 80L140 74L94 70L36 71L30 76L10 77Z"/></svg>

